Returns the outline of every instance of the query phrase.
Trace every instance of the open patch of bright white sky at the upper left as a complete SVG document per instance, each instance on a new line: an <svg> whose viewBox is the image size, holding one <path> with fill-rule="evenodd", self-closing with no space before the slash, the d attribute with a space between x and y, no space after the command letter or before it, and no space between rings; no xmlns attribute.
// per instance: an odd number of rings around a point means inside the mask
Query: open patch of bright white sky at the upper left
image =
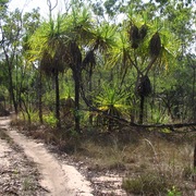
<svg viewBox="0 0 196 196"><path fill-rule="evenodd" d="M50 0L52 7L56 4L57 0ZM30 12L34 8L40 8L40 14L44 17L48 16L49 9L47 5L47 0L11 0L9 3L9 10L14 11L16 8L23 10L23 12ZM58 0L58 7L52 11L52 13L58 13L63 11L64 0Z"/></svg>

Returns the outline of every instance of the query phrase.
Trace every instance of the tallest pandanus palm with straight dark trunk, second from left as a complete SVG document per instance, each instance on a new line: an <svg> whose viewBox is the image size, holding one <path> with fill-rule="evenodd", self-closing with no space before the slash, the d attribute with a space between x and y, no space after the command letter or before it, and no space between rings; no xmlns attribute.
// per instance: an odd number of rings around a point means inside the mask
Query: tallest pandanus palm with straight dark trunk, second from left
<svg viewBox="0 0 196 196"><path fill-rule="evenodd" d="M66 35L70 37L66 54L69 66L72 70L75 84L75 131L81 132L79 127L79 89L83 70L83 52L89 40L93 38L93 22L86 8L72 8L68 16L69 28Z"/></svg>

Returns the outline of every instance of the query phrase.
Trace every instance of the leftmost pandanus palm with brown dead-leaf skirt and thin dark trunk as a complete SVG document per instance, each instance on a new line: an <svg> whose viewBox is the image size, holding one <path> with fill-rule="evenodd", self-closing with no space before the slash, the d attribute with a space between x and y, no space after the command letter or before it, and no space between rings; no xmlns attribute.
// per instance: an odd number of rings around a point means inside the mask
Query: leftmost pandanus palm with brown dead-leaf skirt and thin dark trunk
<svg viewBox="0 0 196 196"><path fill-rule="evenodd" d="M32 60L39 60L40 72L54 78L57 126L61 126L59 73L66 68L64 32L64 16L59 14L57 20L44 22L29 39Z"/></svg>

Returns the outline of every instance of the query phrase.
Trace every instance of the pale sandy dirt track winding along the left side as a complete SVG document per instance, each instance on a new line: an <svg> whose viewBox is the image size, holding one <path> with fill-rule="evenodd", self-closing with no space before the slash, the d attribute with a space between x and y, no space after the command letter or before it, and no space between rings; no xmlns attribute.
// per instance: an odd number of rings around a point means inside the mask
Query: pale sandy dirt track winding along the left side
<svg viewBox="0 0 196 196"><path fill-rule="evenodd" d="M7 134L24 150L27 158L36 163L41 175L40 185L48 191L46 195L93 195L90 183L74 167L59 161L47 150L42 143L37 143L15 130L10 130L9 122L9 119L0 118L0 128L7 130ZM2 148L2 146L0 146L0 148Z"/></svg>

